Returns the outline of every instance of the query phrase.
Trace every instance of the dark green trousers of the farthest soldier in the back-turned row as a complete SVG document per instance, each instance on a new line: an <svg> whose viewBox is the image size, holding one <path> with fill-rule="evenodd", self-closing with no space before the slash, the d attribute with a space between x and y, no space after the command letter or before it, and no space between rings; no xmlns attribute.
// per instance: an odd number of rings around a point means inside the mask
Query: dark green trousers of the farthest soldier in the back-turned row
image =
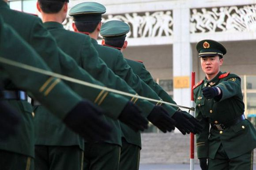
<svg viewBox="0 0 256 170"><path fill-rule="evenodd" d="M119 170L139 170L140 148L122 139Z"/></svg>

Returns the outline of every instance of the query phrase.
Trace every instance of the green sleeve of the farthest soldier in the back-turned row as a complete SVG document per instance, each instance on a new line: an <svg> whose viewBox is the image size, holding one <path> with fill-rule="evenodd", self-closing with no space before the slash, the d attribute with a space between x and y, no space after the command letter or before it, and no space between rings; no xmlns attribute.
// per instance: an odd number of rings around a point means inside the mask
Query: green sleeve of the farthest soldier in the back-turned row
<svg viewBox="0 0 256 170"><path fill-rule="evenodd" d="M160 85L158 85L154 79L152 78L151 74L149 73L149 71L146 69L146 67L144 66L144 64L142 64L143 67L140 70L140 75L139 77L151 88L154 90L154 92L156 92L156 94L158 94L158 96L169 103L173 103L173 104L177 104L172 98L171 96L169 96L169 94L162 89L162 87ZM178 109L178 107L174 107L176 110Z"/></svg>

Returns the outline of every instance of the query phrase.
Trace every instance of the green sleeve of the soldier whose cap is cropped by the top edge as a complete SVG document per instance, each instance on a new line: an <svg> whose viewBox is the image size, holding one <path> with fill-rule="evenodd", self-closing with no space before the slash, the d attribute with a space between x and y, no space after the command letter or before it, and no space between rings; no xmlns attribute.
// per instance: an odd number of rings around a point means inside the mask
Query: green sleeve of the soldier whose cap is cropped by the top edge
<svg viewBox="0 0 256 170"><path fill-rule="evenodd" d="M96 80L102 82L106 87L136 95L136 92L123 79L114 74L114 72L107 67L105 62L98 57L98 52L92 45L91 41L88 42L89 43L86 43L86 41L84 41L81 50L82 67ZM139 106L145 115L149 114L153 110L154 105L147 100L136 100L132 97L125 97Z"/></svg>

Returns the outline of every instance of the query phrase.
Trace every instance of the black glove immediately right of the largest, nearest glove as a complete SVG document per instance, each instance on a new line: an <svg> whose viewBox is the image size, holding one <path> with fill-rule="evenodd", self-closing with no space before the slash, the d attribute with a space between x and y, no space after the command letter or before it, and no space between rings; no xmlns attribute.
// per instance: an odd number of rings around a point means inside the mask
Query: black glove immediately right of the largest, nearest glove
<svg viewBox="0 0 256 170"><path fill-rule="evenodd" d="M141 113L142 112L139 110L139 108L129 101L119 115L118 119L136 132L138 130L143 131L144 129L148 128L148 121L141 115Z"/></svg>

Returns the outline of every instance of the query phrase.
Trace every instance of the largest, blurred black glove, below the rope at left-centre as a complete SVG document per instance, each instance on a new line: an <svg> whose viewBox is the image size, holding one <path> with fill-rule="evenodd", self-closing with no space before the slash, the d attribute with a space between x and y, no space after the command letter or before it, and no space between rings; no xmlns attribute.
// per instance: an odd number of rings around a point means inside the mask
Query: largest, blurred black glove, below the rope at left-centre
<svg viewBox="0 0 256 170"><path fill-rule="evenodd" d="M63 122L88 142L108 140L112 127L104 120L103 111L88 100L79 102Z"/></svg>

